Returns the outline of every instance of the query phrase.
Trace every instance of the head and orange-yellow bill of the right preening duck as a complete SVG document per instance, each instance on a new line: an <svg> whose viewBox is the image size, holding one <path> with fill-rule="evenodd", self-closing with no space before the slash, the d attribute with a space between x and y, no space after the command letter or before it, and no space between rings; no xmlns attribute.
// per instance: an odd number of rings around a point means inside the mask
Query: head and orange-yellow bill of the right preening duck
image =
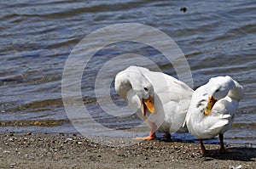
<svg viewBox="0 0 256 169"><path fill-rule="evenodd" d="M226 97L230 92L230 89L235 87L235 82L230 76L218 76L211 78L206 87L209 98L204 114L209 115L213 105L219 99L224 99L224 97Z"/></svg>

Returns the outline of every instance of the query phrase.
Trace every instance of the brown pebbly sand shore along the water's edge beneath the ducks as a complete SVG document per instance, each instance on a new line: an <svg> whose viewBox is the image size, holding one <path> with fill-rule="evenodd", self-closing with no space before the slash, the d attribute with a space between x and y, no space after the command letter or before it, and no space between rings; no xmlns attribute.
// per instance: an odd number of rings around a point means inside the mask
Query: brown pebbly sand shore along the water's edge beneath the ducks
<svg viewBox="0 0 256 169"><path fill-rule="evenodd" d="M114 138L113 138L114 139ZM114 140L113 140L114 141ZM96 144L77 135L0 133L0 168L255 168L256 149L218 144L201 155L199 144L142 141L125 147Z"/></svg>

